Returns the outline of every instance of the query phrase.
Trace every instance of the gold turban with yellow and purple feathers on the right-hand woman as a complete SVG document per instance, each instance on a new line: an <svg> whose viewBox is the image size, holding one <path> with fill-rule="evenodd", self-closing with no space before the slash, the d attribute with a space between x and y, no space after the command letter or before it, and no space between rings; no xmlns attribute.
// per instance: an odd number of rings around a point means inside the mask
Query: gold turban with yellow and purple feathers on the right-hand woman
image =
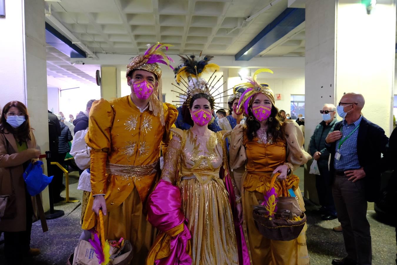
<svg viewBox="0 0 397 265"><path fill-rule="evenodd" d="M263 93L264 95L266 95L274 105L274 94L272 89L270 89L268 84L265 83L259 84L256 81L256 76L263 72L273 74L272 70L267 68L261 68L256 70L252 77L247 77L248 79L247 83L239 84L244 87L247 87L247 90L241 95L239 99L239 104L237 105L238 112L241 110L241 107L243 107L245 114L248 115L248 106L251 104L251 101L254 98L253 96L256 95L257 93Z"/></svg>

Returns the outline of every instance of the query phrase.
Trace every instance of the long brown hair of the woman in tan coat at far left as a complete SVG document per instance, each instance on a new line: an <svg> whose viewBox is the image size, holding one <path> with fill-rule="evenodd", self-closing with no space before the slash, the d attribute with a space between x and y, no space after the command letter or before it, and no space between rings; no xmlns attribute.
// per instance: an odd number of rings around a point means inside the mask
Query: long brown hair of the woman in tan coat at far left
<svg viewBox="0 0 397 265"><path fill-rule="evenodd" d="M7 112L11 107L17 108L20 112L22 112L25 115L25 122L21 124L18 128L13 128L10 124L7 122ZM0 116L0 133L12 133L15 138L18 141L29 141L31 140L30 138L30 122L29 122L29 114L27 112L27 108L25 104L19 101L10 101L6 105L4 105L4 108L1 112ZM7 132L5 132L5 130Z"/></svg>

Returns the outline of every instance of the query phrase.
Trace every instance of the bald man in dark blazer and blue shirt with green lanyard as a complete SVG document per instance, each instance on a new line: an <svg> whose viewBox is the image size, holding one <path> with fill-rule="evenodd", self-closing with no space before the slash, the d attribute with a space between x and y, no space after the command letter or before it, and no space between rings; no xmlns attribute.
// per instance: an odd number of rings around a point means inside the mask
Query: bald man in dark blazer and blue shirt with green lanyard
<svg viewBox="0 0 397 265"><path fill-rule="evenodd" d="M332 194L347 252L347 257L333 259L333 265L372 264L367 201L379 199L380 159L388 138L382 128L361 115L364 104L361 94L343 95L337 106L343 121L325 139L331 153Z"/></svg>

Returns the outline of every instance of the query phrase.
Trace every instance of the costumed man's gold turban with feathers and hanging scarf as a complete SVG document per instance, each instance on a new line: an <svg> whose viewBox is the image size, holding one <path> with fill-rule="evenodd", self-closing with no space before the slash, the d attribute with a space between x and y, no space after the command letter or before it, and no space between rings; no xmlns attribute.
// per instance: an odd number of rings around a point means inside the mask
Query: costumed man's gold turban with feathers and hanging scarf
<svg viewBox="0 0 397 265"><path fill-rule="evenodd" d="M146 50L145 54L139 55L131 60L131 62L127 65L127 72L125 73L125 77L128 77L128 74L133 70L145 70L156 75L158 81L157 91L150 96L149 108L153 111L155 116L160 115L160 122L163 126L165 125L165 121L163 110L162 79L161 68L158 63L166 64L173 69L173 67L170 66L170 62L173 62L172 58L168 57L160 50L163 47L168 50L169 46L173 45L156 43L150 46Z"/></svg>

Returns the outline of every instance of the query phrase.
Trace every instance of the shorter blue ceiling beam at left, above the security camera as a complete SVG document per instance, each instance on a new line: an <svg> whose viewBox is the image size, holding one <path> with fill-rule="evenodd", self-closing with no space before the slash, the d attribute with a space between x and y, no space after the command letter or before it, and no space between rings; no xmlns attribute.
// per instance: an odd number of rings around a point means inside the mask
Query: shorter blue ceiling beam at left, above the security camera
<svg viewBox="0 0 397 265"><path fill-rule="evenodd" d="M46 22L46 43L70 58L87 58L87 54Z"/></svg>

